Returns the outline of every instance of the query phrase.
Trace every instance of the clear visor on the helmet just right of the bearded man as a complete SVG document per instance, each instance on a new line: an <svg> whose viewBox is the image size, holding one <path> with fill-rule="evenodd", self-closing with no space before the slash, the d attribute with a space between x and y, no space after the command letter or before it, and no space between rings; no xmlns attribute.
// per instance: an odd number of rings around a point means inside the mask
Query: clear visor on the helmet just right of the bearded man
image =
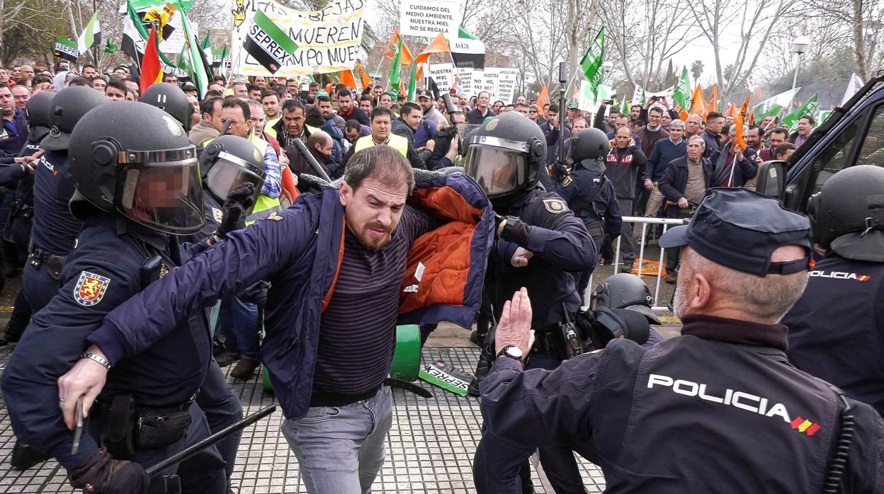
<svg viewBox="0 0 884 494"><path fill-rule="evenodd" d="M465 162L467 174L489 199L521 190L528 181L528 161L522 151L470 144Z"/></svg>

